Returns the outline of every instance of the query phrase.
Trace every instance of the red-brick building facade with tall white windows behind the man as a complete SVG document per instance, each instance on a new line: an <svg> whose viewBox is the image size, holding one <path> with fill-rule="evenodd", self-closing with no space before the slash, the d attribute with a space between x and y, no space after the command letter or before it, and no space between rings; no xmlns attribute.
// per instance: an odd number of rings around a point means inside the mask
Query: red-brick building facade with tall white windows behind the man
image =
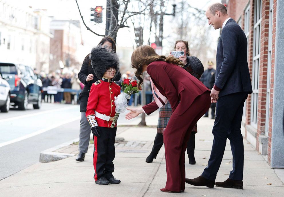
<svg viewBox="0 0 284 197"><path fill-rule="evenodd" d="M266 156L271 168L284 168L284 31L281 21L284 0L222 0L222 3L248 39L253 93L244 107L243 136Z"/></svg>

